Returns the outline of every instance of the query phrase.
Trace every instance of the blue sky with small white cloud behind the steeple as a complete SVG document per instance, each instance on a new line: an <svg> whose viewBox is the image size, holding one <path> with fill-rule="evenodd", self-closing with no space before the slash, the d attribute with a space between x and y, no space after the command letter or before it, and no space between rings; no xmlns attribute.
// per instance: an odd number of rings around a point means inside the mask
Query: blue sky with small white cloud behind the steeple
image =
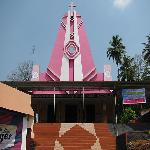
<svg viewBox="0 0 150 150"><path fill-rule="evenodd" d="M0 81L19 63L34 60L41 72L50 61L61 18L68 11L68 0L0 0ZM119 34L128 55L144 48L150 34L150 0L73 0L84 21L97 71L112 65L106 52L113 35ZM35 45L35 54L32 49Z"/></svg>

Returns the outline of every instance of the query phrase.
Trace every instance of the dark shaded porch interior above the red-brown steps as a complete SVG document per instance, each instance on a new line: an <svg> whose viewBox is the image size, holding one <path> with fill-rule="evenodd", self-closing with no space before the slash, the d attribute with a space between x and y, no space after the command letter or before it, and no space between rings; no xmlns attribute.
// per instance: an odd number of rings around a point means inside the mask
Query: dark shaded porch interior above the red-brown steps
<svg viewBox="0 0 150 150"><path fill-rule="evenodd" d="M66 96L66 95L65 95ZM68 96L68 95L67 95ZM114 119L114 102L111 96L89 97L53 97L32 101L38 122L47 123L112 123ZM55 108L55 109L54 109ZM37 122L37 120L36 120Z"/></svg>

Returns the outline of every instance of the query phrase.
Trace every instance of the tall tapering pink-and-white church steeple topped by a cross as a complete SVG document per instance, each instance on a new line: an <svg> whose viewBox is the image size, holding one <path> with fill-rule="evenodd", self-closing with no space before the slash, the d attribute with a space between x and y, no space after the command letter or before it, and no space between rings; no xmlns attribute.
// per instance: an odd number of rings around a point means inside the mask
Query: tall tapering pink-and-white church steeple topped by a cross
<svg viewBox="0 0 150 150"><path fill-rule="evenodd" d="M75 7L71 2L68 13L62 17L50 63L41 80L103 80L103 73L96 71L83 20Z"/></svg>

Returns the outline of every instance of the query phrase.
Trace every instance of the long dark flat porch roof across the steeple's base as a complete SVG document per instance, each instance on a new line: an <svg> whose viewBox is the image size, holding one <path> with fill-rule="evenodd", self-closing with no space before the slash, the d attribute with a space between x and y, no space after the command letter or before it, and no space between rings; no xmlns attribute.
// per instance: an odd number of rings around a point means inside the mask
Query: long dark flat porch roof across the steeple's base
<svg viewBox="0 0 150 150"><path fill-rule="evenodd" d="M146 88L150 90L150 81L121 82L121 81L1 81L21 91L46 91L46 90L82 90L85 89L110 89Z"/></svg>

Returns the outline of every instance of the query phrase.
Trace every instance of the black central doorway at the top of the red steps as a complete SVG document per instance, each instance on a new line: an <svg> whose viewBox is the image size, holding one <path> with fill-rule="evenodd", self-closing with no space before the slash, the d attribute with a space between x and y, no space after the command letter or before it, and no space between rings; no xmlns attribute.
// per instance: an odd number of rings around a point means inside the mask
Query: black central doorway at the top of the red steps
<svg viewBox="0 0 150 150"><path fill-rule="evenodd" d="M73 123L77 122L77 105L66 104L65 105L65 122Z"/></svg>

